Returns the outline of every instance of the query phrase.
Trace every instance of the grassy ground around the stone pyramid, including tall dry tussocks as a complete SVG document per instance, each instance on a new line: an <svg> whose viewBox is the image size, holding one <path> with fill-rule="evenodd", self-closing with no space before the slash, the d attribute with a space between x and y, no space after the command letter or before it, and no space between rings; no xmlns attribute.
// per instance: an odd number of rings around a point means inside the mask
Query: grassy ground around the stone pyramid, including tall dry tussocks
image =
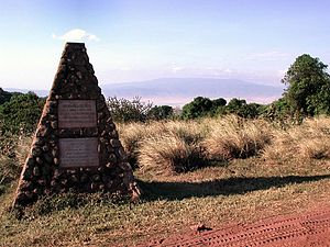
<svg viewBox="0 0 330 247"><path fill-rule="evenodd" d="M68 193L18 218L9 209L29 138L15 141L1 155L0 245L132 246L198 223L217 228L330 205L329 119L287 130L234 116L119 127L139 166L139 203Z"/></svg>

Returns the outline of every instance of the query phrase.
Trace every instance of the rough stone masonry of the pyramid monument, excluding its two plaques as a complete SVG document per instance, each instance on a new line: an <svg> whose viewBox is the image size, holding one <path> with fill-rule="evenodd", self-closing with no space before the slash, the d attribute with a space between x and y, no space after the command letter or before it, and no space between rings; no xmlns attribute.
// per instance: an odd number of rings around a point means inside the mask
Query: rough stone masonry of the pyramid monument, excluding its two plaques
<svg viewBox="0 0 330 247"><path fill-rule="evenodd" d="M58 127L59 100L95 100L96 127ZM97 137L99 166L61 166L59 138ZM139 189L116 125L98 87L84 44L67 43L53 87L44 105L31 150L24 164L14 205L26 205L41 195L107 191L139 197Z"/></svg>

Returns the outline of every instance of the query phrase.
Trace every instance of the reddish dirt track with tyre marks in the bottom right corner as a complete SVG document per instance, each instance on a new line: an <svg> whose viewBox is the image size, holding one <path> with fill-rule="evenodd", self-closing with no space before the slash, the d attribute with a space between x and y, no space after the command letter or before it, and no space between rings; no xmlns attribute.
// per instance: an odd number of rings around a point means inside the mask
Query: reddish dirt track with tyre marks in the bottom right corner
<svg viewBox="0 0 330 247"><path fill-rule="evenodd" d="M330 209L315 210L307 214L276 216L221 229L170 236L142 246L330 247Z"/></svg>

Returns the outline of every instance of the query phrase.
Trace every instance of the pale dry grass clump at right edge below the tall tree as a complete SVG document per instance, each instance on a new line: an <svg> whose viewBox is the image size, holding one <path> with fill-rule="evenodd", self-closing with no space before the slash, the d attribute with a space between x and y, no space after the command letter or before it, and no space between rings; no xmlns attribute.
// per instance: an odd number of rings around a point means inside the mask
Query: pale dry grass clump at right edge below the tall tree
<svg viewBox="0 0 330 247"><path fill-rule="evenodd" d="M330 119L308 119L288 131L276 131L263 158L279 161L330 158Z"/></svg>

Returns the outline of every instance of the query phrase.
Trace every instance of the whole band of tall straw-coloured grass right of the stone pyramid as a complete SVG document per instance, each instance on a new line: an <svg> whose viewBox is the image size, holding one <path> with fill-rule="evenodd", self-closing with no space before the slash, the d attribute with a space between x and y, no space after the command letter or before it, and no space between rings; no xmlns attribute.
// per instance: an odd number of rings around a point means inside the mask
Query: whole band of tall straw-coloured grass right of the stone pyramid
<svg viewBox="0 0 330 247"><path fill-rule="evenodd" d="M215 160L258 155L272 162L330 158L330 119L324 116L305 120L288 130L234 115L133 123L119 128L130 161L156 173L182 172Z"/></svg>

